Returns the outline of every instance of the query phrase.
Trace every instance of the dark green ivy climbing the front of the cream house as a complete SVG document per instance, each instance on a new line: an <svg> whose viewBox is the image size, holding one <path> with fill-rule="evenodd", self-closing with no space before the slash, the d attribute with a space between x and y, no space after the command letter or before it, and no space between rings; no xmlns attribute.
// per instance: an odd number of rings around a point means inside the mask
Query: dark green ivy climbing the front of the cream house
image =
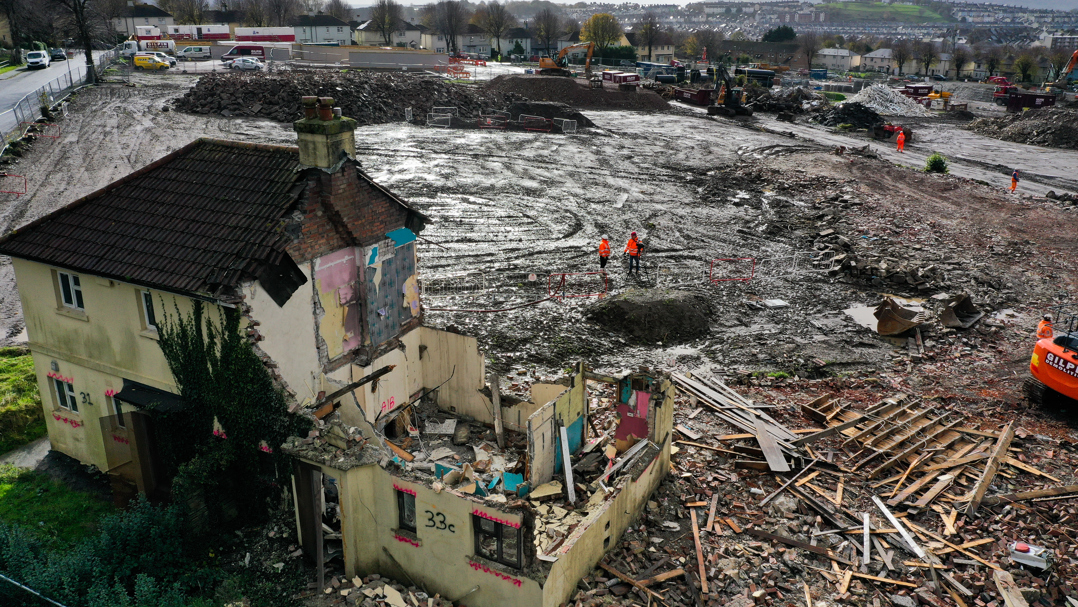
<svg viewBox="0 0 1078 607"><path fill-rule="evenodd" d="M238 514L250 522L268 513L289 470L277 447L305 436L310 423L289 413L240 328L239 311L210 309L216 314L195 302L190 315L177 308L161 322L158 344L184 406L154 414L157 457L165 474L175 474L172 495L202 514L196 522L215 527Z"/></svg>

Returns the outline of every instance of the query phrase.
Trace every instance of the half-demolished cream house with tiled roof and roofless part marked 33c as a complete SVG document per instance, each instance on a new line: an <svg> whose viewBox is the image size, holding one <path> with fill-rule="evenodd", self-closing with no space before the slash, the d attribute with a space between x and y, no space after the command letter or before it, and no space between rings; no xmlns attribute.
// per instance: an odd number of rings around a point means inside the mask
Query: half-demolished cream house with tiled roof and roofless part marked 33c
<svg viewBox="0 0 1078 607"><path fill-rule="evenodd" d="M581 364L501 398L474 339L421 323L426 218L363 173L355 121L313 100L298 148L198 139L0 239L52 446L153 493L146 412L183 406L158 326L194 302L235 308L316 419L282 447L319 570L558 605L668 470L675 388Z"/></svg>

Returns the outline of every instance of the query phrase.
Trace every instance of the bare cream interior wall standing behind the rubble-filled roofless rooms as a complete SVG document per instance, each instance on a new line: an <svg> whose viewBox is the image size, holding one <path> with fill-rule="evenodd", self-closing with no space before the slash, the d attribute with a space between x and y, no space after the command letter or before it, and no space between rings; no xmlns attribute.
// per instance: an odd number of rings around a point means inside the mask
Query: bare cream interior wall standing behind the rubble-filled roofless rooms
<svg viewBox="0 0 1078 607"><path fill-rule="evenodd" d="M481 390L486 386L486 361L475 337L420 327L423 353L423 385L438 391L431 396L442 409L474 419L494 423L489 397Z"/></svg>

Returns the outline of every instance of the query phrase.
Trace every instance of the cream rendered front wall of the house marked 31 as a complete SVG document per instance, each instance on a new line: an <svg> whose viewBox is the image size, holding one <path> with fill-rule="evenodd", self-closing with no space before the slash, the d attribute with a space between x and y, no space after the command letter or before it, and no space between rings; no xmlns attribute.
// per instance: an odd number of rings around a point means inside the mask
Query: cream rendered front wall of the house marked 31
<svg viewBox="0 0 1078 607"><path fill-rule="evenodd" d="M23 303L28 345L33 356L49 438L54 450L107 470L106 437L100 417L111 415L106 394L120 391L126 377L176 392L172 374L157 345L156 335L143 330L141 287L78 274L85 314L59 304L56 270L38 262L12 259ZM67 271L63 271L67 272ZM157 322L167 316L191 314L192 300L153 291ZM219 315L216 305L207 316ZM70 378L79 412L60 409L49 374ZM57 418L59 416L59 418Z"/></svg>

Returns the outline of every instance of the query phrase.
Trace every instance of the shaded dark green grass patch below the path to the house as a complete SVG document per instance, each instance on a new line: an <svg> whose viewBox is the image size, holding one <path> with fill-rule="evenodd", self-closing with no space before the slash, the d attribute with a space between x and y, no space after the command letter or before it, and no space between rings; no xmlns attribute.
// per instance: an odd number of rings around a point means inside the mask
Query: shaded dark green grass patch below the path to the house
<svg viewBox="0 0 1078 607"><path fill-rule="evenodd" d="M26 527L52 548L93 534L112 505L69 489L44 474L0 466L0 521Z"/></svg>

